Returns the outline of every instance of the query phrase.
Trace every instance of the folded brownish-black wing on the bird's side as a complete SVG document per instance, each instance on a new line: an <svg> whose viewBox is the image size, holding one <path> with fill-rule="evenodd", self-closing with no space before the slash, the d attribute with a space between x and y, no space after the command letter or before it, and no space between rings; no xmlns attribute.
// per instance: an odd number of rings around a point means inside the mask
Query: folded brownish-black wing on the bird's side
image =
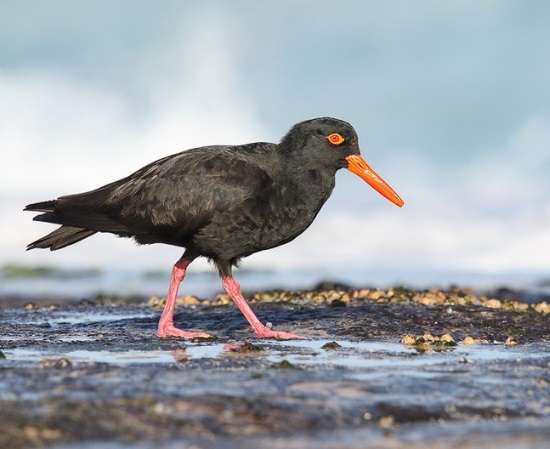
<svg viewBox="0 0 550 449"><path fill-rule="evenodd" d="M239 147L203 147L160 159L99 189L60 197L54 212L37 219L119 235L173 230L183 236L271 184Z"/></svg>

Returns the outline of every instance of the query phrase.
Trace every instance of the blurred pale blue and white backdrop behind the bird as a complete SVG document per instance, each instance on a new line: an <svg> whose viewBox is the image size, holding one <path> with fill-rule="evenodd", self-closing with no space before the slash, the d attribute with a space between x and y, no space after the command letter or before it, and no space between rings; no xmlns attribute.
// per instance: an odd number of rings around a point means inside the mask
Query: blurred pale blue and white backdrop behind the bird
<svg viewBox="0 0 550 449"><path fill-rule="evenodd" d="M548 278L549 23L544 0L0 0L0 266L169 271L179 248L110 235L25 252L53 227L22 209L333 116L405 206L342 170L244 267Z"/></svg>

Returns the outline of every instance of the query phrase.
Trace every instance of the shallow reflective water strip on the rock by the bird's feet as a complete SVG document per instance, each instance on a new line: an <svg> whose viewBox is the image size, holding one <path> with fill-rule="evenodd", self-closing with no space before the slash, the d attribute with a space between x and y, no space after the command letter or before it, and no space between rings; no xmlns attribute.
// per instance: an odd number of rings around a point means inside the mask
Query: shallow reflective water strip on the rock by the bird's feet
<svg viewBox="0 0 550 449"><path fill-rule="evenodd" d="M77 321L78 322L78 321ZM86 342L92 337L61 336L59 342ZM10 337L0 337L2 341L13 341ZM48 349L6 349L4 366L11 364L33 364L44 358L66 358L71 363L101 363L116 366L136 364L173 364L187 360L217 359L227 357L259 358L272 363L287 361L292 365L328 365L346 368L384 368L437 366L450 363L475 363L476 361L514 360L522 361L548 357L550 343L525 344L506 347L502 344L460 345L429 353L418 352L413 347L394 342L354 342L338 340L341 348L325 350L325 344L334 340L298 340L286 342L257 343L258 351L235 353L225 348L225 343L193 344L185 348L163 350L60 350ZM52 343L52 342L50 342Z"/></svg>

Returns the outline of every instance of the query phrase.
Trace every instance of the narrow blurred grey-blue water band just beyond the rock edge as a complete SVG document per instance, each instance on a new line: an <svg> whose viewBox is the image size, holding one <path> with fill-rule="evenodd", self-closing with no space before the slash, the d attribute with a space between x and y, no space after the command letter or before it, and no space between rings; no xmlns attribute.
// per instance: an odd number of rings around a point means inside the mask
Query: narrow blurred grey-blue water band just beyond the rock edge
<svg viewBox="0 0 550 449"><path fill-rule="evenodd" d="M191 266L193 268L193 266ZM497 291L521 294L521 299L538 301L550 297L550 279L543 274L526 273L434 273L369 270L250 270L236 269L235 278L243 292L261 290L309 290L323 282L350 287L387 288L403 286L415 289L471 288L475 293ZM5 266L0 270L0 303L2 298L93 299L102 296L164 296L168 289L170 267L165 271L140 270L67 270L64 268ZM190 269L179 294L212 297L222 292L220 279L211 271ZM515 298L514 298L515 299ZM518 298L519 299L519 298Z"/></svg>

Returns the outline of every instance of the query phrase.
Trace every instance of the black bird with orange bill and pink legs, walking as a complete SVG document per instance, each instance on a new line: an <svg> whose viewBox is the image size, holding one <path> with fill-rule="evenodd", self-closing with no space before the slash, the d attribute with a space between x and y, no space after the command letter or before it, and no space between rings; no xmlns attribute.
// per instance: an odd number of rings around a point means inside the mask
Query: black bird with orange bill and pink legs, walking
<svg viewBox="0 0 550 449"><path fill-rule="evenodd" d="M324 117L294 125L279 144L257 142L194 148L167 156L90 192L29 204L34 220L61 227L29 244L51 251L96 232L140 244L185 248L172 269L159 337L208 337L177 329L176 295L188 265L207 257L225 291L257 337L299 338L264 326L243 298L232 267L242 257L290 242L329 198L336 172L347 168L398 206L399 196L363 160L353 127Z"/></svg>

